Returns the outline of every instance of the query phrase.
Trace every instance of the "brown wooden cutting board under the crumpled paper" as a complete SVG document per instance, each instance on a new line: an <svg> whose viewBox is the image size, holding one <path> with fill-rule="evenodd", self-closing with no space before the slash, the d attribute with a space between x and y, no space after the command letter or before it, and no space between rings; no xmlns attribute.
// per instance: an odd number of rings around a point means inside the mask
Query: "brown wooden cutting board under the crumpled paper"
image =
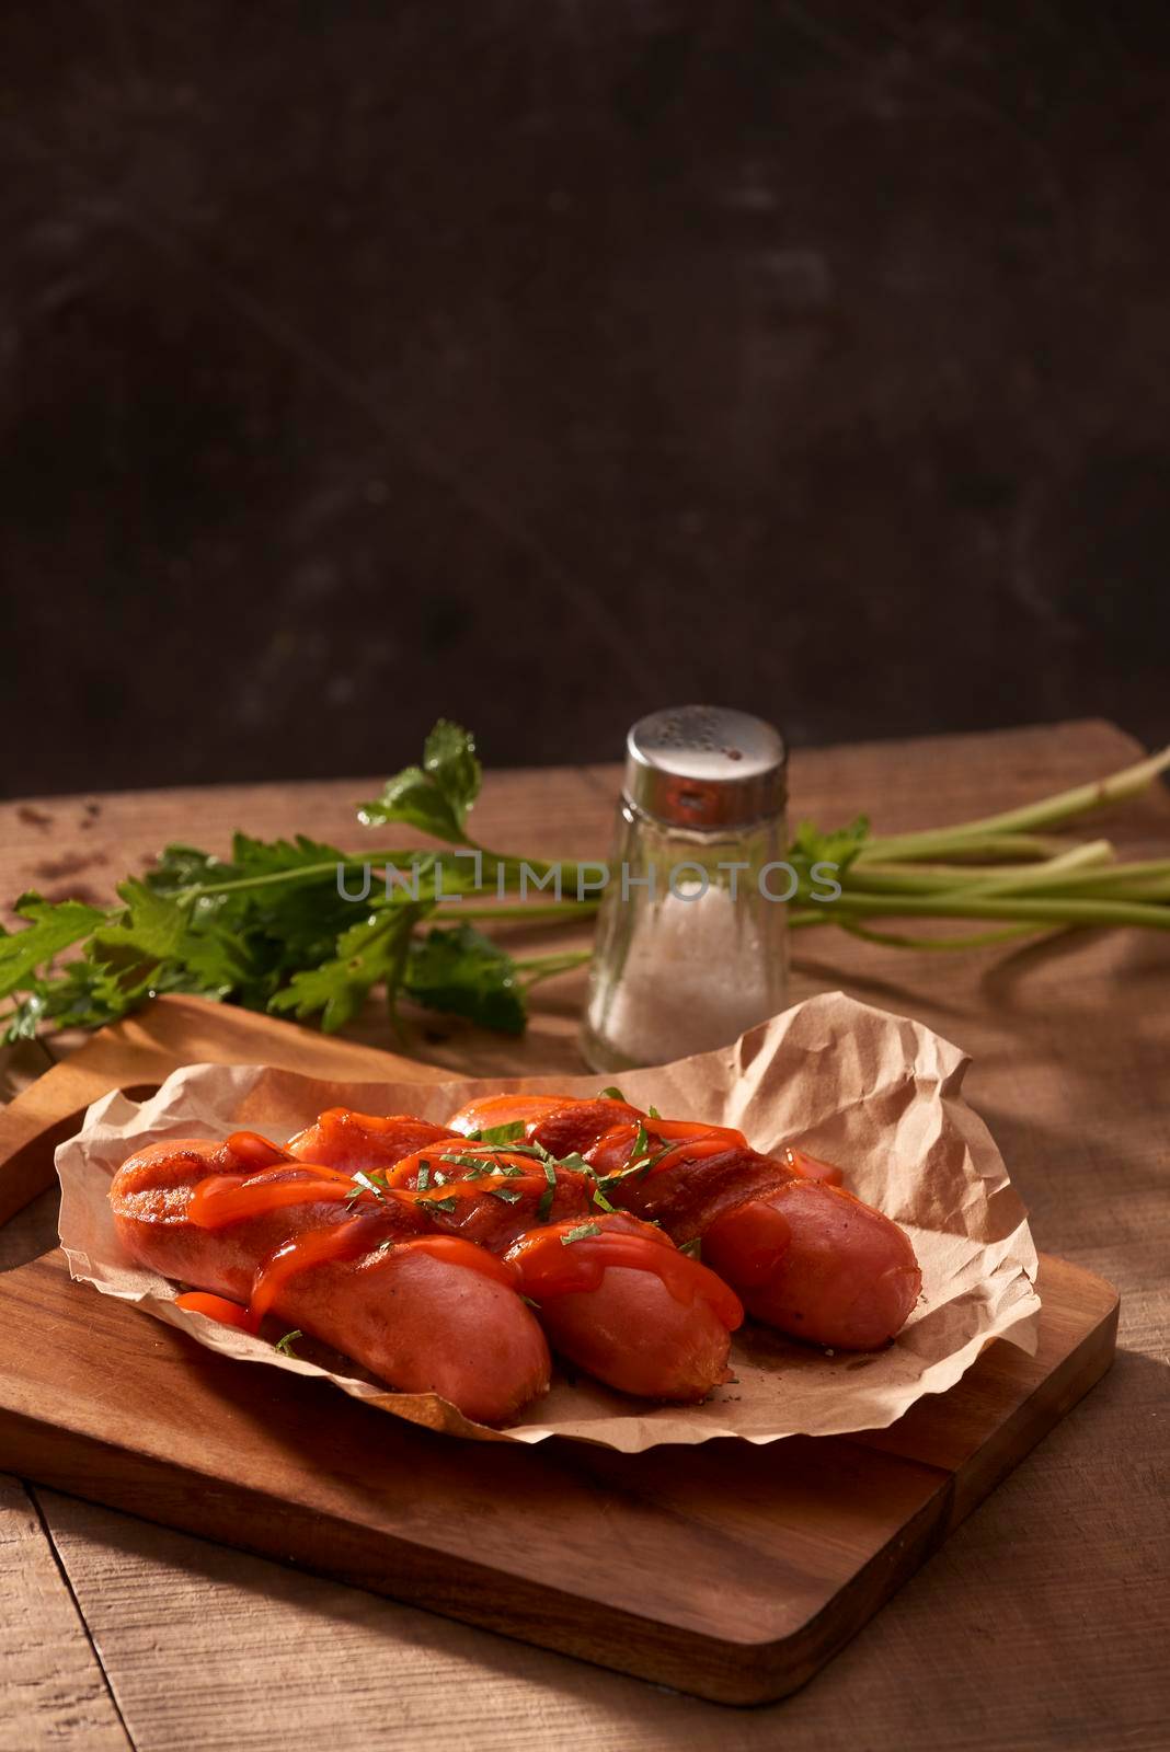
<svg viewBox="0 0 1170 1752"><path fill-rule="evenodd" d="M0 1200L119 1086L214 1058L349 1077L403 1060L165 999L0 1114ZM441 1076L412 1063L410 1074ZM215 1356L74 1284L0 1277L0 1468L450 1617L760 1703L809 1678L1109 1368L1116 1291L1044 1258L1040 1347L995 1342L890 1430L613 1454L464 1445L328 1384Z"/></svg>

